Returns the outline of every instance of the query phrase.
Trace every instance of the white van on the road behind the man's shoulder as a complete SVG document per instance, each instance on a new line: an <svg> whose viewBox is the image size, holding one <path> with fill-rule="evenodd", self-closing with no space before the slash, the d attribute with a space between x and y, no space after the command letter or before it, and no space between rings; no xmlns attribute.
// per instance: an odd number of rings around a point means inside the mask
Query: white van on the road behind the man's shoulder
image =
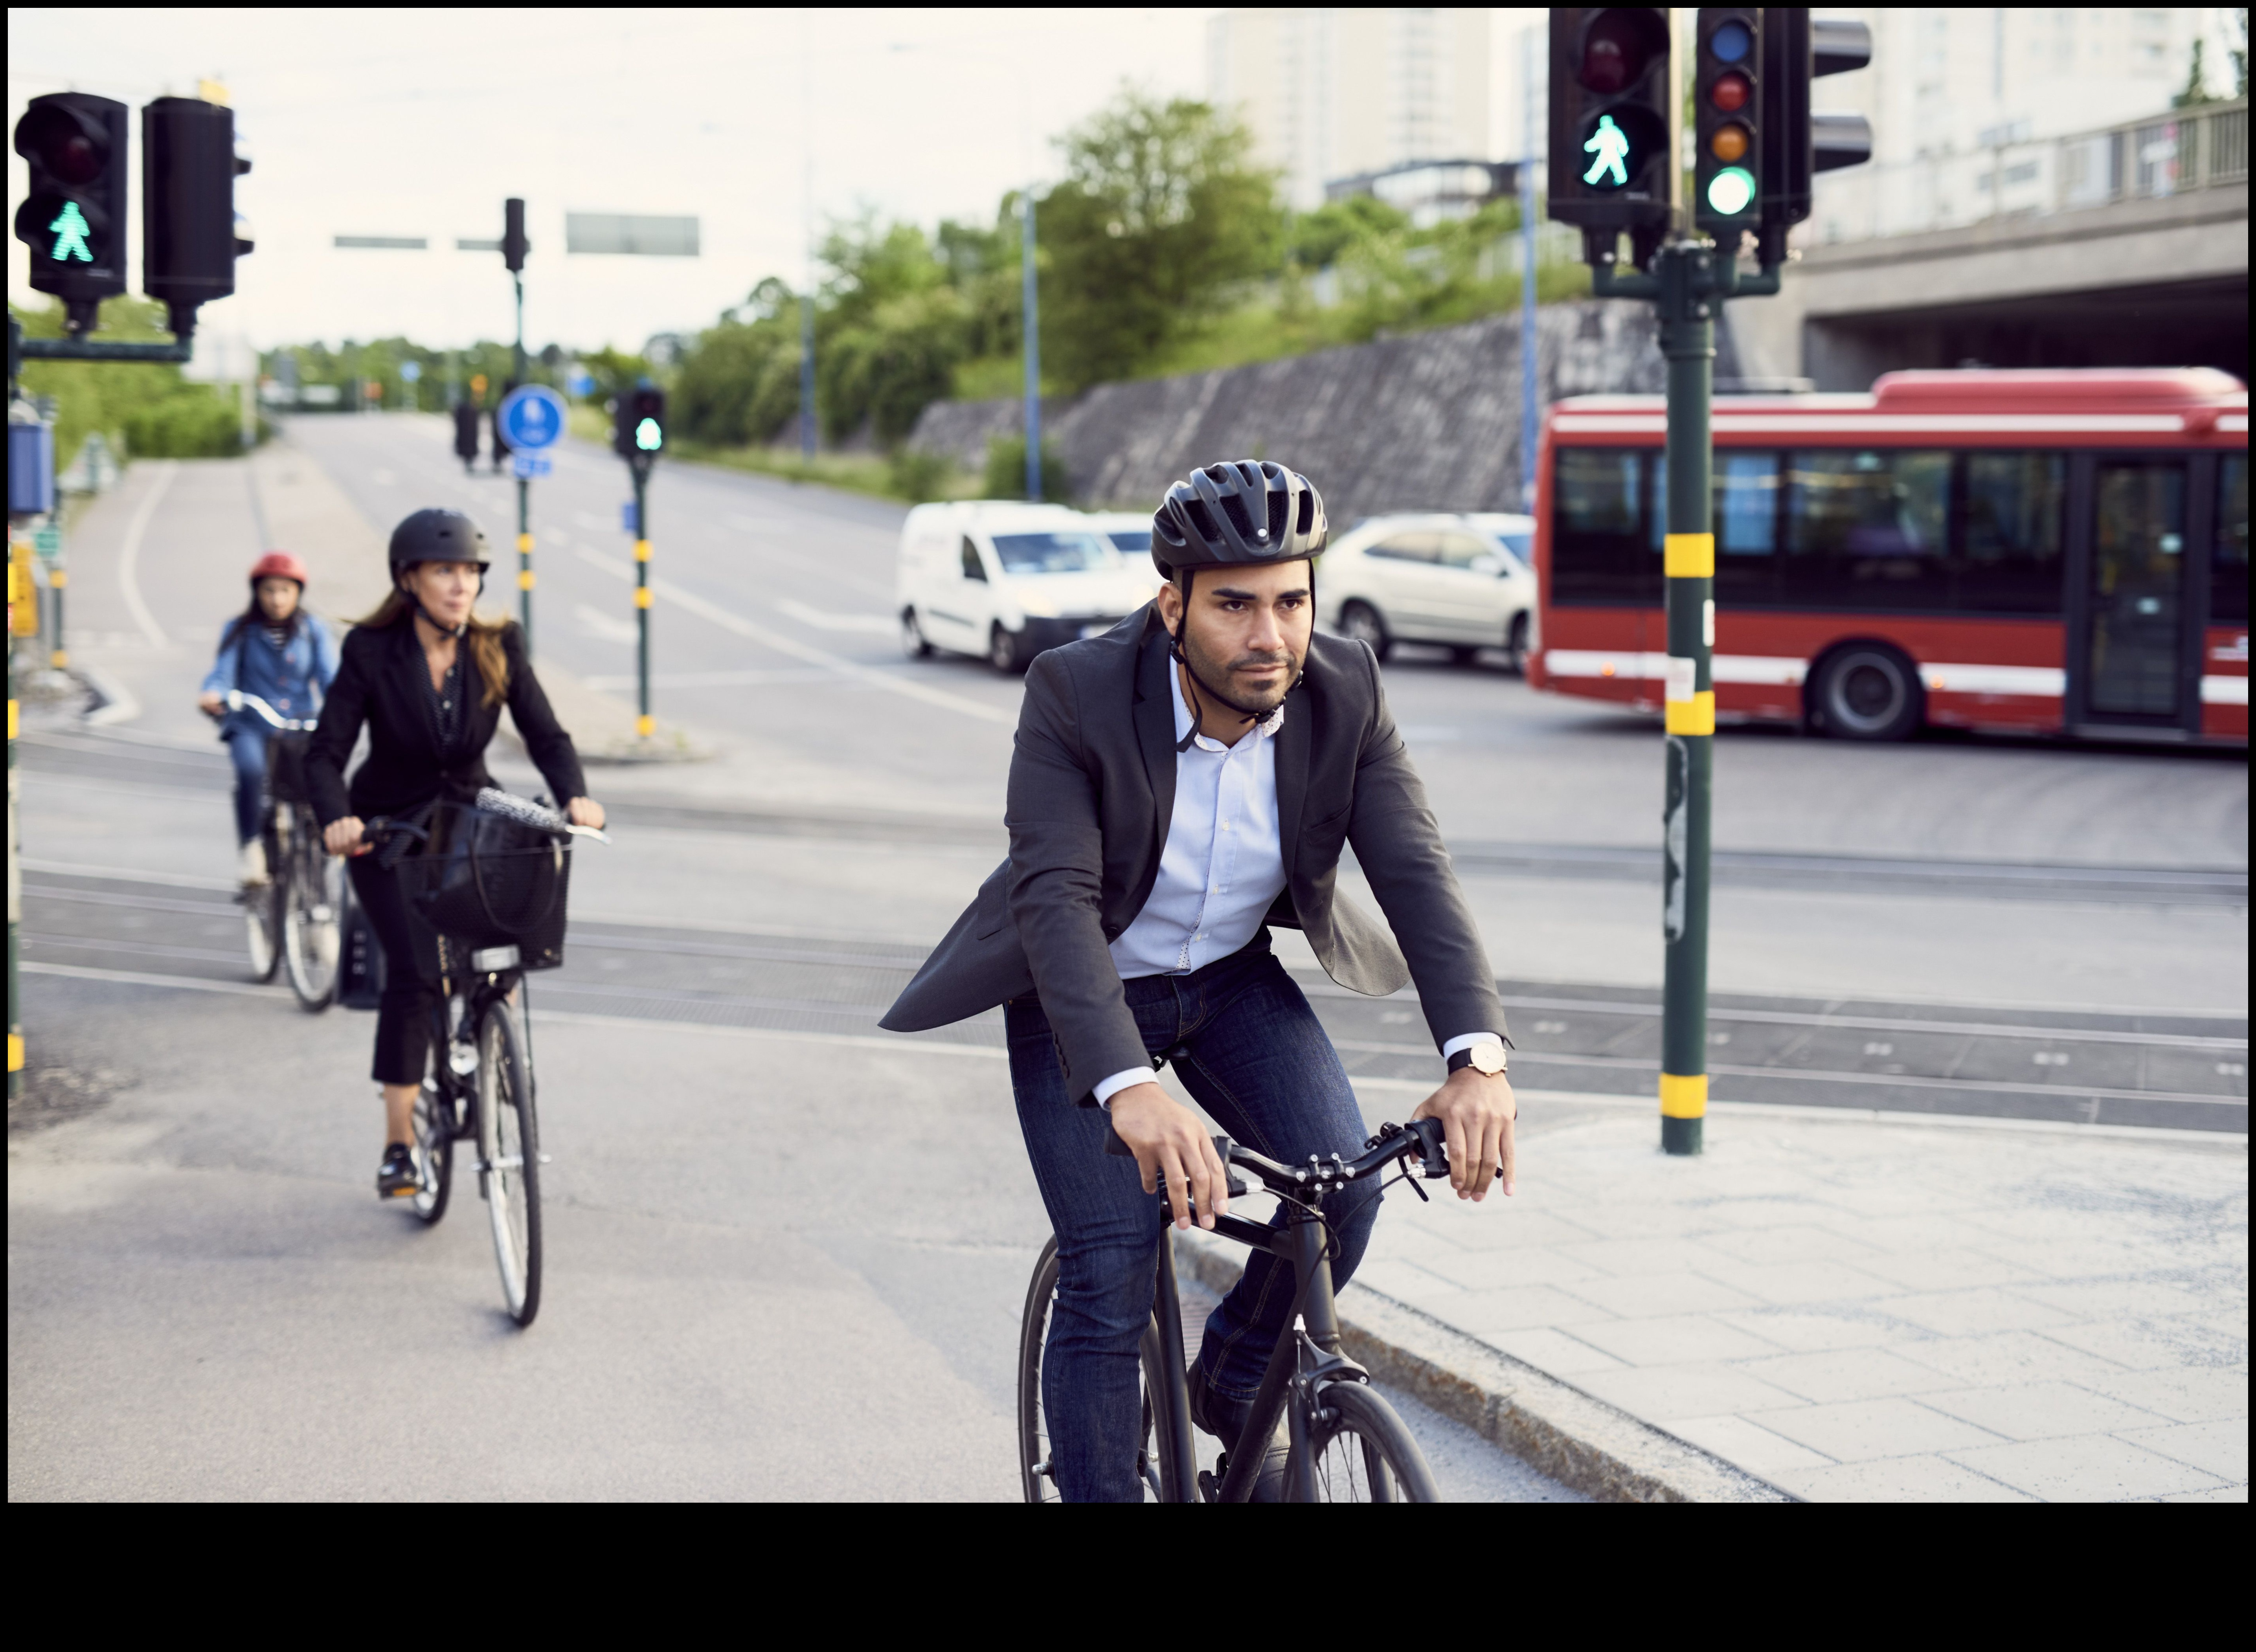
<svg viewBox="0 0 2256 1652"><path fill-rule="evenodd" d="M963 501L900 524L893 609L911 659L938 648L1020 673L1045 648L1112 630L1155 587L1151 557L1121 555L1078 510Z"/></svg>

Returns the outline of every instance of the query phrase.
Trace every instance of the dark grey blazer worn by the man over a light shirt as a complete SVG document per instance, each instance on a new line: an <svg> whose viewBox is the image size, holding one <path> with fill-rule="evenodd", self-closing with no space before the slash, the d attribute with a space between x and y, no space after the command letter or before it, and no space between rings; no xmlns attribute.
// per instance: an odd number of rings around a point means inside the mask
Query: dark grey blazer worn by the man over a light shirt
<svg viewBox="0 0 2256 1652"><path fill-rule="evenodd" d="M1011 858L882 1027L945 1027L1036 993L1083 1101L1099 1079L1151 1061L1108 948L1151 898L1175 815L1171 668L1151 605L1033 661L1011 756ZM1275 740L1286 887L1268 923L1306 932L1351 991L1385 995L1415 979L1435 1045L1502 1034L1487 950L1372 650L1315 636ZM1354 844L1401 948L1336 889L1342 844Z"/></svg>

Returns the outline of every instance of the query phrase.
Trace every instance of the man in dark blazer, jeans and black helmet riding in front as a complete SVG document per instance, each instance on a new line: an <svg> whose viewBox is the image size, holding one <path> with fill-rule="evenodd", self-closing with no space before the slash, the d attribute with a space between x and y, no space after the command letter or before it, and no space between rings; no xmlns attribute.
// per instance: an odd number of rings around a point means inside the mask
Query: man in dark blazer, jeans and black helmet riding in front
<svg viewBox="0 0 2256 1652"><path fill-rule="evenodd" d="M1297 928L1340 986L1417 982L1448 1077L1451 1183L1512 1192L1505 1016L1426 790L1363 643L1318 636L1324 503L1270 463L1207 465L1153 515L1157 600L1033 661L1011 758L1011 858L979 887L884 1027L923 1031L1004 1004L1011 1090L1058 1234L1042 1359L1058 1492L1137 1501L1139 1343L1169 1219L1211 1225L1227 1176L1205 1122L1270 1158L1354 1155L1354 1086L1270 952ZM1354 844L1387 925L1336 889ZM1396 948L1396 941L1401 943ZM1135 1169L1105 1153L1110 1128ZM1500 1167L1500 1171L1496 1169ZM1153 1194L1166 1194L1162 1207ZM1378 1214L1338 1201L1345 1284ZM1257 1253L1207 1320L1191 1370L1202 1429L1236 1440L1293 1311Z"/></svg>

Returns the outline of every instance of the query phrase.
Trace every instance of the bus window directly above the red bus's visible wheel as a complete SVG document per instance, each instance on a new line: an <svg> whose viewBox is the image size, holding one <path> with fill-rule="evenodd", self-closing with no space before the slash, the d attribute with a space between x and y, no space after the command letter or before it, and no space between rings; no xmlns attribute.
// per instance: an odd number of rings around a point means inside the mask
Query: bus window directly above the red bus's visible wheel
<svg viewBox="0 0 2256 1652"><path fill-rule="evenodd" d="M1784 603L1949 605L1949 454L1800 451L1787 487Z"/></svg>

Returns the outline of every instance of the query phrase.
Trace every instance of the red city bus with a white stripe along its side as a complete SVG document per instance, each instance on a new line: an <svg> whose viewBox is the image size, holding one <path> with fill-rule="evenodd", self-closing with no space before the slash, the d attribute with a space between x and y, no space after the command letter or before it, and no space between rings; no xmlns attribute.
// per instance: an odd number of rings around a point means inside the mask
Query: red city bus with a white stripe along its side
<svg viewBox="0 0 2256 1652"><path fill-rule="evenodd" d="M1717 399L1717 713L2247 742L2247 429L2211 368ZM1660 709L1663 433L1654 395L1543 424L1536 688Z"/></svg>

